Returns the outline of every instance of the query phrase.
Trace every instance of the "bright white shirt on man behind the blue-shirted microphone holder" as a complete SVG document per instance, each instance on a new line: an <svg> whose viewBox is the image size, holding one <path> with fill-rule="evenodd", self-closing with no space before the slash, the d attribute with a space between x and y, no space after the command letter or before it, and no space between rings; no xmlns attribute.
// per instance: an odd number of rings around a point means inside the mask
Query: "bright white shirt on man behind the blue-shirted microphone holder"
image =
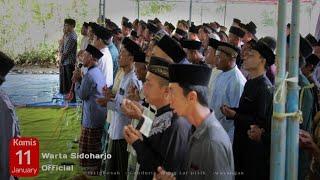
<svg viewBox="0 0 320 180"><path fill-rule="evenodd" d="M108 46L100 50L103 56L98 61L98 68L106 79L108 87L113 85L113 62Z"/></svg>

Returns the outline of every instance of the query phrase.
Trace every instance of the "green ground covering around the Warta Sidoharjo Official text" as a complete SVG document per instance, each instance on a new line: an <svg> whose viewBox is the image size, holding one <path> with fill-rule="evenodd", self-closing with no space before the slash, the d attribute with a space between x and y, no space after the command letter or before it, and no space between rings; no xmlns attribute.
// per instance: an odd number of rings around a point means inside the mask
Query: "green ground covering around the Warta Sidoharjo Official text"
<svg viewBox="0 0 320 180"><path fill-rule="evenodd" d="M79 152L79 144L73 143L80 136L80 112L76 108L18 108L21 136L37 137L40 142L40 172L37 177L20 179L72 179L82 174L79 160L71 159L70 153ZM68 154L68 159L44 159L41 153ZM44 164L61 165L73 162L73 171L42 171ZM93 177L98 180L105 177Z"/></svg>

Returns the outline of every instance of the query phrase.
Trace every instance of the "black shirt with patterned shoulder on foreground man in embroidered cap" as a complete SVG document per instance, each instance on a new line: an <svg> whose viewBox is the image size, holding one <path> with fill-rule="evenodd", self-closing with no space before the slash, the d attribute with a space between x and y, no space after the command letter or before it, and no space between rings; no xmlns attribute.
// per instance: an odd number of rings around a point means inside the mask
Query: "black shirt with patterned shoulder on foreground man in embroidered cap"
<svg viewBox="0 0 320 180"><path fill-rule="evenodd" d="M191 125L173 113L170 106L157 110L149 137L132 144L140 164L138 179L151 180L158 166L179 172L186 156Z"/></svg>

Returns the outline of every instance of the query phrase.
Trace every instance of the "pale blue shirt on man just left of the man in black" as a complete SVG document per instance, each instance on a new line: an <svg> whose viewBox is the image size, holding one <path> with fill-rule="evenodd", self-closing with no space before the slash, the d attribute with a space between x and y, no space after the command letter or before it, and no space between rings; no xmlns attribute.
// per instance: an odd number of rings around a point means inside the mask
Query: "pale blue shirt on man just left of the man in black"
<svg viewBox="0 0 320 180"><path fill-rule="evenodd" d="M233 142L234 124L222 114L220 107L226 104L229 107L238 107L243 92L246 78L235 66L233 69L220 73L215 82L212 83L212 98L209 107L213 109L217 119L227 131L231 142Z"/></svg>

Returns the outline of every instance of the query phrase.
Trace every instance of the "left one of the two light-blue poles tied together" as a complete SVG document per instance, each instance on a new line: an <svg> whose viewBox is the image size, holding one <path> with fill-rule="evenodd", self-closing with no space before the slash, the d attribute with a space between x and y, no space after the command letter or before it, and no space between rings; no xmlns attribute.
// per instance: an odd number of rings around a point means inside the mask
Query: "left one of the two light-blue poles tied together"
<svg viewBox="0 0 320 180"><path fill-rule="evenodd" d="M279 0L278 3L278 35L276 54L276 90L280 90L281 97L274 97L273 114L285 113L286 94L283 93L286 74L286 14L287 0ZM286 155L286 127L285 117L275 117L273 115L271 125L271 157L270 157L270 179L283 180L285 178L285 155Z"/></svg>

